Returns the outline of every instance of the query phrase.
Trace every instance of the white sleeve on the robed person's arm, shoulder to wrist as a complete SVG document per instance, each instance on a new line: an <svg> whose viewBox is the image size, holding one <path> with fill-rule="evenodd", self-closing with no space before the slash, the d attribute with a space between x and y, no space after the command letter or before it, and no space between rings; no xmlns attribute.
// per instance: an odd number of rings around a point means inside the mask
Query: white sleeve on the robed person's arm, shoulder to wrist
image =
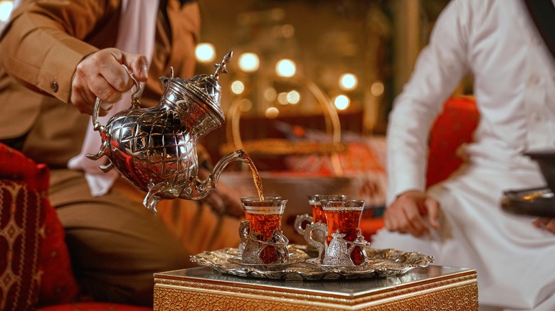
<svg viewBox="0 0 555 311"><path fill-rule="evenodd" d="M387 204L403 192L425 188L430 126L467 73L469 2L451 1L440 14L411 79L393 102L387 129Z"/></svg>

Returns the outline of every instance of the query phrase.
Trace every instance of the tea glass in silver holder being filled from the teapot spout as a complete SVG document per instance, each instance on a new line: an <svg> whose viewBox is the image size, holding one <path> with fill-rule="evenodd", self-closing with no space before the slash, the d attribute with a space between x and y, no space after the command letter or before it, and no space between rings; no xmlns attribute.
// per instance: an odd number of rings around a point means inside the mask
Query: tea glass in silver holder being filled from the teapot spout
<svg viewBox="0 0 555 311"><path fill-rule="evenodd" d="M284 263L289 259L289 240L281 231L282 215L287 200L244 199L247 229L240 230L245 246L243 263ZM242 228L244 226L241 226Z"/></svg>

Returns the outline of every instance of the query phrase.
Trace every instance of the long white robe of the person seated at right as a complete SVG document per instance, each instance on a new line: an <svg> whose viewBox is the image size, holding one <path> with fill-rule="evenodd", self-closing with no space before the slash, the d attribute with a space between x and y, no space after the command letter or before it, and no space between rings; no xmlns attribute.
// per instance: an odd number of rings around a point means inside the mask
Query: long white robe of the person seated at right
<svg viewBox="0 0 555 311"><path fill-rule="evenodd" d="M555 310L555 235L501 209L504 190L545 185L522 153L555 149L555 60L521 1L455 0L440 14L388 122L388 203L425 189L428 129L469 72L480 111L470 160L428 190L442 229L423 239L383 229L374 247L476 268L481 307Z"/></svg>

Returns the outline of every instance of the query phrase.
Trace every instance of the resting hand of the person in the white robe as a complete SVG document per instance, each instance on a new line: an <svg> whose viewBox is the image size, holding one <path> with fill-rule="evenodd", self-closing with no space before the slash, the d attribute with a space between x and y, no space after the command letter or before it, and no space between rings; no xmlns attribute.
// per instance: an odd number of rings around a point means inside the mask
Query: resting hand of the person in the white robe
<svg viewBox="0 0 555 311"><path fill-rule="evenodd" d="M434 229L439 229L439 203L425 193L411 190L399 195L384 213L384 222L389 231L410 233L413 236L428 234L430 229L425 217Z"/></svg>

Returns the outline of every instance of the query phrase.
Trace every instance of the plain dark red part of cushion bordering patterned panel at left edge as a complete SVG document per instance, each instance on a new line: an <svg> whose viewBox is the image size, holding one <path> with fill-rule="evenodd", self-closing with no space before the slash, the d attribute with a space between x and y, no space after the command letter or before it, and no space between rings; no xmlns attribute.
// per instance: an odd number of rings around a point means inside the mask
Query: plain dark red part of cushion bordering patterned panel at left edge
<svg viewBox="0 0 555 311"><path fill-rule="evenodd" d="M26 229L28 234L40 234L41 239L37 244L39 251L35 256L28 254L26 257L35 258L38 262L38 271L33 272L33 278L38 280L40 289L33 295L38 295L40 305L73 301L78 294L78 286L71 270L68 249L64 241L63 227L58 220L56 210L48 200L49 177L46 165L37 165L22 153L0 143L0 180L24 182L26 187L38 193L39 196L38 203L35 204L36 212L41 215L37 227L39 229ZM1 212L4 213L4 203L1 207ZM5 258L8 257L0 251L0 260ZM0 310L2 310L1 307Z"/></svg>

